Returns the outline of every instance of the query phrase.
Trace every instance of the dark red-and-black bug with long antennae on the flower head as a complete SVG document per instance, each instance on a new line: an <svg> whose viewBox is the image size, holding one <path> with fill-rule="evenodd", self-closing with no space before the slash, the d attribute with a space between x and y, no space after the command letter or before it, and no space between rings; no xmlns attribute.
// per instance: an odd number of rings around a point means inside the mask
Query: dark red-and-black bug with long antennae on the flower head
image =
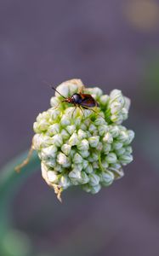
<svg viewBox="0 0 159 256"><path fill-rule="evenodd" d="M74 93L70 97L65 97L65 96L61 95L60 92L58 90L56 90L53 86L51 86L51 88L64 98L64 100L62 102L68 102L68 103L73 104L75 106L75 109L77 107L80 108L81 110L82 110L82 108L85 108L85 109L91 108L90 110L92 110L96 113L96 111L92 108L99 107L99 103L96 102L94 100L94 97L91 96L90 94L84 94L80 91L79 93ZM58 106L56 108L58 108ZM83 113L83 111L82 111L82 113Z"/></svg>

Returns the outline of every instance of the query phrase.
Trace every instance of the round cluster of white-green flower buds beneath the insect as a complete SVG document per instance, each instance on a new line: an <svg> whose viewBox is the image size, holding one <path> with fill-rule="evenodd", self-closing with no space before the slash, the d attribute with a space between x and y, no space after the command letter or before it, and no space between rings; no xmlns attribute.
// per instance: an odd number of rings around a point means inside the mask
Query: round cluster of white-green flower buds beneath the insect
<svg viewBox="0 0 159 256"><path fill-rule="evenodd" d="M122 125L128 118L130 100L121 90L104 95L98 87L85 87L80 79L66 81L56 90L65 98L82 91L99 106L75 107L62 102L64 98L55 92L51 108L40 113L33 125L32 147L41 160L43 178L59 199L61 191L77 185L98 193L102 186L122 177L122 166L133 160L130 143L134 132Z"/></svg>

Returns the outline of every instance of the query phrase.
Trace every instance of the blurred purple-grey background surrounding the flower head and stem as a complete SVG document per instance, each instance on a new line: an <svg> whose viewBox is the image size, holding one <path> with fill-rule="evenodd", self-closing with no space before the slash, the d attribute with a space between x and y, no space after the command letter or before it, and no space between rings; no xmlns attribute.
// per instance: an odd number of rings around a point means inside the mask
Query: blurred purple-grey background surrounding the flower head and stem
<svg viewBox="0 0 159 256"><path fill-rule="evenodd" d="M133 163L98 195L68 189L62 204L39 167L14 196L0 255L156 256L159 1L0 0L1 166L31 145L32 123L54 94L43 80L73 78L131 98Z"/></svg>

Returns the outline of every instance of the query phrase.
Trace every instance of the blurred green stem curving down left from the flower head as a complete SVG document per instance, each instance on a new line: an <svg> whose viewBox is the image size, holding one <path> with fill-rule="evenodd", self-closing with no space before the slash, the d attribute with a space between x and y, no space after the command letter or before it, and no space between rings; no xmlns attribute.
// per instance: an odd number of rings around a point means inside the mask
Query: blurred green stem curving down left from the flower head
<svg viewBox="0 0 159 256"><path fill-rule="evenodd" d="M0 171L0 236L3 236L11 224L10 207L15 195L26 178L40 166L37 153L34 152L28 165L24 166L20 173L15 172L14 167L26 159L26 155L27 152L20 154Z"/></svg>

